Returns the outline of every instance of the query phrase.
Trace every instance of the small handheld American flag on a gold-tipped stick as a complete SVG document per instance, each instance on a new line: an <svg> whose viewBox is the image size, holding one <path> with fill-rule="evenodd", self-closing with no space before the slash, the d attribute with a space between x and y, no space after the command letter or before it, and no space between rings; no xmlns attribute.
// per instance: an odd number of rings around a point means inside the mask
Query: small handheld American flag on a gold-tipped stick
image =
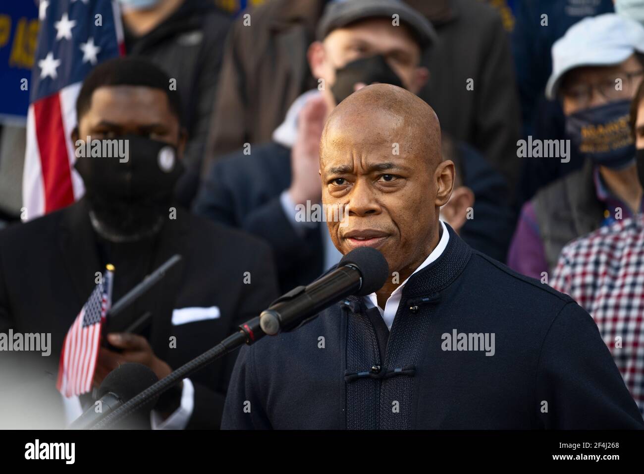
<svg viewBox="0 0 644 474"><path fill-rule="evenodd" d="M91 390L99 355L100 331L111 306L113 267L108 265L102 281L91 292L62 344L56 388L65 397Z"/></svg>

